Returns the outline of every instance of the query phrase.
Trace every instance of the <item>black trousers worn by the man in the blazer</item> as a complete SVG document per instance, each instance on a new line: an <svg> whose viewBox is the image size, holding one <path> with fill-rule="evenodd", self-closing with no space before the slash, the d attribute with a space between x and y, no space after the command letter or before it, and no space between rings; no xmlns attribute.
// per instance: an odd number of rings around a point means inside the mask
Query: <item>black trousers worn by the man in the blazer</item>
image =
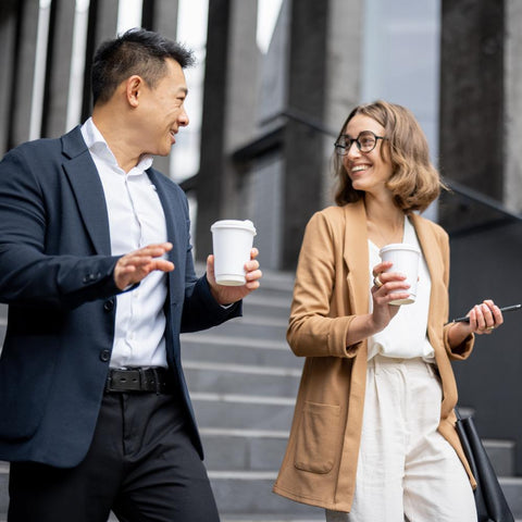
<svg viewBox="0 0 522 522"><path fill-rule="evenodd" d="M78 467L11 464L8 522L219 522L185 415L172 395L105 394Z"/></svg>

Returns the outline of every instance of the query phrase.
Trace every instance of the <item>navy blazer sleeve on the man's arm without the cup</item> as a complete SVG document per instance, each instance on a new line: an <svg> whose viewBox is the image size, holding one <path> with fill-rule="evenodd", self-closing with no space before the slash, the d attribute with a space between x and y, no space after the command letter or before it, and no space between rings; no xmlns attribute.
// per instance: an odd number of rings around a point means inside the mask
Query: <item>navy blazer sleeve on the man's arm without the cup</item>
<svg viewBox="0 0 522 522"><path fill-rule="evenodd" d="M76 307L120 293L117 257L46 253L47 235L59 233L49 223L50 203L24 153L9 152L0 162L0 301Z"/></svg>

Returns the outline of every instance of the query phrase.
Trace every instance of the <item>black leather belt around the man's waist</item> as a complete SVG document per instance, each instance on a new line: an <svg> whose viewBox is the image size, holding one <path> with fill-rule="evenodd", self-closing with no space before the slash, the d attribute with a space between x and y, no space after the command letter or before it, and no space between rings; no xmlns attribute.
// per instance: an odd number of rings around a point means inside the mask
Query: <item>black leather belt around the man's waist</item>
<svg viewBox="0 0 522 522"><path fill-rule="evenodd" d="M162 366L110 369L105 393L174 393L174 380Z"/></svg>

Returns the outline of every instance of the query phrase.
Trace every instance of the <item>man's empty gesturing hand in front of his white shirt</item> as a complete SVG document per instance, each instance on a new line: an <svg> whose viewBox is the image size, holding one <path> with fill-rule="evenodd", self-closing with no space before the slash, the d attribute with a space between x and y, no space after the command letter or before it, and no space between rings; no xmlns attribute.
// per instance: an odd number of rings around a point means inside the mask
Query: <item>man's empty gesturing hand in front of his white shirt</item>
<svg viewBox="0 0 522 522"><path fill-rule="evenodd" d="M171 243L148 245L120 258L114 266L114 282L116 286L124 290L127 286L142 281L154 270L161 272L173 271L174 264L166 259L162 259L162 256L171 249Z"/></svg>

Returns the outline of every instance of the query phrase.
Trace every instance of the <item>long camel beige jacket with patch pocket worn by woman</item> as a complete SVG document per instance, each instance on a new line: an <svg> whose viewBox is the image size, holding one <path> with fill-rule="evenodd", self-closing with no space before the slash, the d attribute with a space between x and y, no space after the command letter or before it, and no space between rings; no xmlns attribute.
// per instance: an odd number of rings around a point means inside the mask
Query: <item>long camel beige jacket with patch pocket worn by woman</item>
<svg viewBox="0 0 522 522"><path fill-rule="evenodd" d="M473 336L451 349L448 318L449 243L435 223L411 222L432 278L427 336L435 350L443 401L438 431L475 482L455 430L457 386L450 360L469 357ZM369 310L366 215L362 201L330 207L304 233L294 289L288 343L306 357L286 455L274 493L349 511L356 486L366 376L366 341L346 346L350 323Z"/></svg>

